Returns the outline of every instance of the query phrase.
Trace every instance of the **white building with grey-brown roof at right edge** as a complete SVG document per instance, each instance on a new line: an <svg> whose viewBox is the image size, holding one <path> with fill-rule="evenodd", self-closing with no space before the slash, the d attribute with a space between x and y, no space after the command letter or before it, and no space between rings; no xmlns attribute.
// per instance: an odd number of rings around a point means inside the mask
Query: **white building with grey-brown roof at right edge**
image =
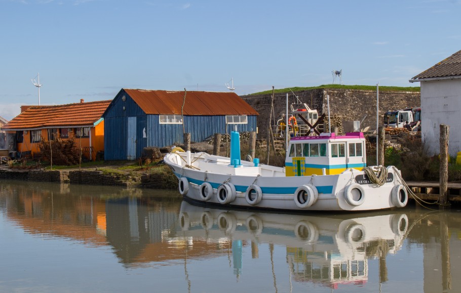
<svg viewBox="0 0 461 293"><path fill-rule="evenodd" d="M450 126L448 152L461 152L461 51L416 75L421 85L421 135L428 155L440 151L440 124Z"/></svg>

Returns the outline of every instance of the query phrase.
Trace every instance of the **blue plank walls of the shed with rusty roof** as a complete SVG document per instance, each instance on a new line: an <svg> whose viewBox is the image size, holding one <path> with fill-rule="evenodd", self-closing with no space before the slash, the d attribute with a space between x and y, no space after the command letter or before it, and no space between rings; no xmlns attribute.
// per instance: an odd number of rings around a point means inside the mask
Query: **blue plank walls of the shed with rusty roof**
<svg viewBox="0 0 461 293"><path fill-rule="evenodd" d="M125 102L122 96L126 96ZM123 110L125 107L125 110ZM128 141L128 117L136 117L136 158L146 146L163 146L183 143L182 124L160 124L159 115L146 115L122 89L113 99L104 117L104 160L126 160ZM234 130L255 131L256 116L248 116L248 124L228 124L227 133ZM146 136L143 137L145 128ZM185 132L192 141L203 141L214 133L226 133L225 116L184 116Z"/></svg>

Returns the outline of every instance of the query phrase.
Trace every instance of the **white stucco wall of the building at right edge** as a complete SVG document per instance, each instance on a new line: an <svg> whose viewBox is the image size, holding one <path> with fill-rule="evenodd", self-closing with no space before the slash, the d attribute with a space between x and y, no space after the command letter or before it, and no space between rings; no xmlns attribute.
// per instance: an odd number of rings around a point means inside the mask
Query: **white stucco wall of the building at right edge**
<svg viewBox="0 0 461 293"><path fill-rule="evenodd" d="M448 152L461 152L461 79L421 81L422 143L428 155L440 151L440 124L450 126Z"/></svg>

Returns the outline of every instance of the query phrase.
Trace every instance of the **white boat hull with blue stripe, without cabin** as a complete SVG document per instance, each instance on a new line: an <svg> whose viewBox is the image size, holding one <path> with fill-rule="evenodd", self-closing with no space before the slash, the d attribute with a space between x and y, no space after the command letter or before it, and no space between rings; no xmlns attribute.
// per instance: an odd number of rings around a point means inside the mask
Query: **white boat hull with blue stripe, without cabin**
<svg viewBox="0 0 461 293"><path fill-rule="evenodd" d="M367 179L365 173L356 169L348 169L337 175L286 177L284 168L267 165L255 167L250 162L242 162L242 166L235 168L229 165L228 158L205 153L190 154L189 158L187 153L170 153L164 161L180 179L179 189L183 196L207 205L290 211L367 211L403 207L408 200L406 190L399 189L396 193L396 189L402 186L402 180L400 171L394 167L387 168L388 182L379 186L364 181ZM222 198L219 199L219 188L224 192L229 191L220 187L223 183L235 186L235 198L225 203ZM354 188L348 192L351 184ZM213 188L212 194L209 189L203 188L204 185ZM248 200L247 188L252 185L257 185L261 190L257 203ZM302 205L302 201L299 203L299 192L296 191L300 190L300 186L315 187L312 189L316 189L318 195L312 205ZM399 194L403 197L398 198ZM396 202L396 198L400 200Z"/></svg>

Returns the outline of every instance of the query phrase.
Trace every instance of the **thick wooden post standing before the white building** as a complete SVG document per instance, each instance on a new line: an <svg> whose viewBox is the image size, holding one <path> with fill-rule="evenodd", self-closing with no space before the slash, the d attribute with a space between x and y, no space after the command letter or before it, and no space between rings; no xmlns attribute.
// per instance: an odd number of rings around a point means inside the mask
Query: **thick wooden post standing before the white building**
<svg viewBox="0 0 461 293"><path fill-rule="evenodd" d="M440 209L444 209L447 200L447 185L448 185L448 137L450 126L440 124L440 194L439 203Z"/></svg>

